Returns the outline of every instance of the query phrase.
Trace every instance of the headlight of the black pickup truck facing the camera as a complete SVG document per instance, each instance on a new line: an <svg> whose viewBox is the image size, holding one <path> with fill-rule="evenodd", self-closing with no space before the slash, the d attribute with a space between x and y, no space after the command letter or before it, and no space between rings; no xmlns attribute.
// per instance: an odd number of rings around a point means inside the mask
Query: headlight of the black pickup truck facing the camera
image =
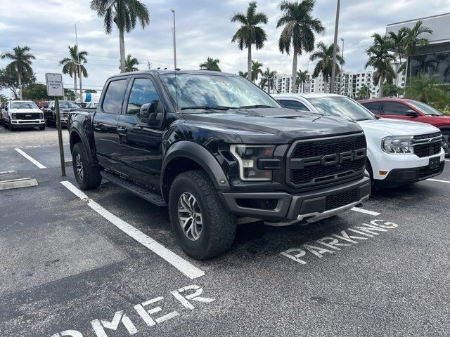
<svg viewBox="0 0 450 337"><path fill-rule="evenodd" d="M275 145L231 145L230 152L239 163L240 180L272 180L272 171L257 168L259 158L270 158L274 154Z"/></svg>

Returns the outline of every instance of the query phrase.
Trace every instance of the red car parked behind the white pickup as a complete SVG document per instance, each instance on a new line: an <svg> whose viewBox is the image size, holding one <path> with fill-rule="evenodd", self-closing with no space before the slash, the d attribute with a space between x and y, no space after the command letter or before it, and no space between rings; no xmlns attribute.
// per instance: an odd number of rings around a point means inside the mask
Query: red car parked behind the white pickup
<svg viewBox="0 0 450 337"><path fill-rule="evenodd" d="M361 100L359 103L378 117L421 121L436 126L444 136L446 157L450 157L450 116L444 116L439 110L418 100L380 98Z"/></svg>

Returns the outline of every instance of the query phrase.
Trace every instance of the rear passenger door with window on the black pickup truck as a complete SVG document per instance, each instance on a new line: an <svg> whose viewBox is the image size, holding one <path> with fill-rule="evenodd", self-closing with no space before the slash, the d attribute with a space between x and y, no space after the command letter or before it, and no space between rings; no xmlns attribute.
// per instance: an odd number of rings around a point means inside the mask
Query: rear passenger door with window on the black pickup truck
<svg viewBox="0 0 450 337"><path fill-rule="evenodd" d="M117 120L122 111L126 91L127 79L110 81L103 103L98 107L92 123L98 162L107 169L117 169L119 157Z"/></svg>

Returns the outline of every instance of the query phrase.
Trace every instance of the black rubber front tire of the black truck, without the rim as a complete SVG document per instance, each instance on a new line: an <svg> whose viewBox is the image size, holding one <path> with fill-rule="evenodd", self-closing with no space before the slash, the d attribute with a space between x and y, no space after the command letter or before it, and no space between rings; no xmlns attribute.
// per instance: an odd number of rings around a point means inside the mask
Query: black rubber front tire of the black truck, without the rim
<svg viewBox="0 0 450 337"><path fill-rule="evenodd" d="M202 230L195 241L186 236L180 225L178 202L185 192L195 197L202 215ZM214 258L233 245L236 217L226 211L210 177L204 171L188 171L176 176L169 191L169 216L181 249L191 258Z"/></svg>

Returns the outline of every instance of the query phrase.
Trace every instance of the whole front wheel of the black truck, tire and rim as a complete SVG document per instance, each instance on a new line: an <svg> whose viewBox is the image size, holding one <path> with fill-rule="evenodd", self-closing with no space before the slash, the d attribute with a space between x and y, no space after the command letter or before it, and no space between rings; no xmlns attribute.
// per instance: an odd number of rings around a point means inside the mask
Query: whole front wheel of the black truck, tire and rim
<svg viewBox="0 0 450 337"><path fill-rule="evenodd" d="M219 256L231 248L236 217L224 208L204 171L188 171L174 179L169 216L181 249L196 260Z"/></svg>

